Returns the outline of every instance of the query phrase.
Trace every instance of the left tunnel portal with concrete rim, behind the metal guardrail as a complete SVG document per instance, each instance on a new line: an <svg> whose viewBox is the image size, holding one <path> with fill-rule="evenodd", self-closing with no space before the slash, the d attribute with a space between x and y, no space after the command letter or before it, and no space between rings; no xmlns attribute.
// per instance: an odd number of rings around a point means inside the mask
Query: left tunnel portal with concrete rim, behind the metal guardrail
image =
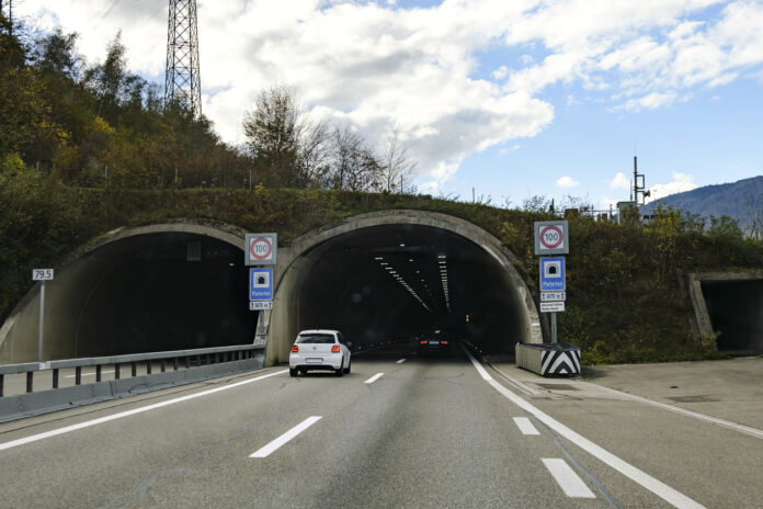
<svg viewBox="0 0 763 509"><path fill-rule="evenodd" d="M182 231L192 226L162 228L109 239L56 271L46 292L43 359L252 342L258 317L248 307L243 242L217 230L223 239ZM38 298L35 291L5 326L5 362L37 359Z"/></svg>

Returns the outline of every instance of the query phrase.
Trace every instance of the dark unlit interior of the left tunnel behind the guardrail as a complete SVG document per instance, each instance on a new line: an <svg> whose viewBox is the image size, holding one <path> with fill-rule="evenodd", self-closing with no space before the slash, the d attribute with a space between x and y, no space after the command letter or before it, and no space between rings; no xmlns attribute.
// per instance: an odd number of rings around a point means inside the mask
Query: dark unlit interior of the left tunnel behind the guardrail
<svg viewBox="0 0 763 509"><path fill-rule="evenodd" d="M251 342L241 249L198 234L129 237L90 252L98 272L78 308L75 355L223 347ZM98 269L96 269L98 268Z"/></svg>

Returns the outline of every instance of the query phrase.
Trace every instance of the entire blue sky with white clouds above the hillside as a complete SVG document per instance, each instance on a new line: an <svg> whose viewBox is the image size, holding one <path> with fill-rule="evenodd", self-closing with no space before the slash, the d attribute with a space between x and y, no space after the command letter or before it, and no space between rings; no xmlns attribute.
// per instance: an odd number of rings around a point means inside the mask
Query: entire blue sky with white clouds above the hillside
<svg viewBox="0 0 763 509"><path fill-rule="evenodd" d="M167 0L24 0L102 59L163 80ZM198 0L204 113L229 143L260 90L382 147L397 126L421 192L521 205L654 196L763 173L763 0Z"/></svg>

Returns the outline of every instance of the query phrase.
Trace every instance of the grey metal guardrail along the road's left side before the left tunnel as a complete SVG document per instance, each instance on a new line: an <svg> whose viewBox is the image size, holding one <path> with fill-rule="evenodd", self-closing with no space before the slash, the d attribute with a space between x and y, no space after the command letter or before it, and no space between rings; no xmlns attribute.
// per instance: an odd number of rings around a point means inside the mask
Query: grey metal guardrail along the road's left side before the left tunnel
<svg viewBox="0 0 763 509"><path fill-rule="evenodd" d="M82 367L94 366L95 382L98 383L102 381L101 373L104 365L114 366L114 380L119 380L122 377L123 366L128 366L130 376L136 376L139 364L143 363L145 364L146 374L150 375L156 361L159 361L159 369L164 373L168 366L171 366L173 371L178 371L181 365L185 369L191 369L225 362L250 360L254 358L255 351L264 350L264 343L240 344L234 347L174 350L169 352L133 353L127 355L3 364L0 365L0 397L4 396L4 377L11 374L26 373L26 393L30 394L33 392L34 387L34 374L43 371L53 371L53 384L50 389L56 389L59 385L59 370L62 369L75 369L75 385L77 386L82 383Z"/></svg>

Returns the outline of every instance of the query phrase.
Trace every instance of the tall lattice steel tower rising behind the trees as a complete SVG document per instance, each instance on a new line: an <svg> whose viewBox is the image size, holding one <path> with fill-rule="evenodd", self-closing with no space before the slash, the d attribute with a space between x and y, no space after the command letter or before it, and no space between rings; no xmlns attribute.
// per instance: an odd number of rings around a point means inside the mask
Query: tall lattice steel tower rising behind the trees
<svg viewBox="0 0 763 509"><path fill-rule="evenodd" d="M198 72L196 0L170 0L167 31L164 106L176 103L202 114L202 79Z"/></svg>

